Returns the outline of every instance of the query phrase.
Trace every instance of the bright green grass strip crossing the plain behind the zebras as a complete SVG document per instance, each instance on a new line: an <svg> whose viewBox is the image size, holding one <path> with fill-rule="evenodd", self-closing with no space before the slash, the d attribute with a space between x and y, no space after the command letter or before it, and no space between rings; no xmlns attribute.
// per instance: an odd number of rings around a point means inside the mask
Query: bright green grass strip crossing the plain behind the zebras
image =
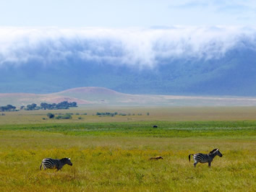
<svg viewBox="0 0 256 192"><path fill-rule="evenodd" d="M153 128L158 125L158 128ZM140 121L111 123L56 123L5 125L0 130L35 130L88 136L209 137L249 139L256 136L256 121Z"/></svg>

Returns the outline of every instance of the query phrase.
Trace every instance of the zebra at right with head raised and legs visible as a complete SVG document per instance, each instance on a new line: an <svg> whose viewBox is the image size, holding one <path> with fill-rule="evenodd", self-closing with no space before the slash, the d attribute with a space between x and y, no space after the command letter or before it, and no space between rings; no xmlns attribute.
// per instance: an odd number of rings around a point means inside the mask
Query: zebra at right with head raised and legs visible
<svg viewBox="0 0 256 192"><path fill-rule="evenodd" d="M210 167L210 163L213 161L213 158L218 155L219 157L222 157L222 154L219 149L213 149L208 154L202 154L202 153L196 153L196 154L189 154L189 162L190 162L190 155L193 156L195 162L194 162L194 167L197 165L198 162L200 163L205 163L208 162L208 166Z"/></svg>

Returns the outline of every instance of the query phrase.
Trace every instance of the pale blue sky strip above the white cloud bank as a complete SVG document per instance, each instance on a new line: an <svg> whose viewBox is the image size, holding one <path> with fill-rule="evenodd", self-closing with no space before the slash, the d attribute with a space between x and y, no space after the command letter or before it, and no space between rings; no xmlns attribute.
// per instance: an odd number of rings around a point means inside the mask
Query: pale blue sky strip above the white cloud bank
<svg viewBox="0 0 256 192"><path fill-rule="evenodd" d="M255 25L255 0L0 0L0 27Z"/></svg>

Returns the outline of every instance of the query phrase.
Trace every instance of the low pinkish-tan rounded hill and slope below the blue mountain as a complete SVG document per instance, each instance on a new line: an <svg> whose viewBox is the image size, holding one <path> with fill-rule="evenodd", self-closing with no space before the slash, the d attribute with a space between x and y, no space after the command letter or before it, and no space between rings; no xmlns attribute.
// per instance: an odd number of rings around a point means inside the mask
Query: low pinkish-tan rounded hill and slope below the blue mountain
<svg viewBox="0 0 256 192"><path fill-rule="evenodd" d="M202 97L176 95L131 95L103 87L79 87L51 94L4 93L0 94L0 106L20 107L41 102L77 102L81 105L119 106L252 106L254 97Z"/></svg>

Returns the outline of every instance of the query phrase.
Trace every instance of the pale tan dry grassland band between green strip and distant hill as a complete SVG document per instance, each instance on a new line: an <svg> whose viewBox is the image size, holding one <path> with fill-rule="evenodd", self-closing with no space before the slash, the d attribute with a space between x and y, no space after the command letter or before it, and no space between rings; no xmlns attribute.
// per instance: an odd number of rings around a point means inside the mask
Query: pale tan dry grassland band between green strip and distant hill
<svg viewBox="0 0 256 192"><path fill-rule="evenodd" d="M98 117L97 112L117 112L127 115L116 115L114 117ZM66 120L47 119L47 113L74 113L72 120L74 123L94 123L94 122L128 122L128 121L243 121L256 120L256 107L110 107L101 108L81 107L70 110L32 110L4 112L0 115L1 124L22 124L22 123L67 123ZM76 115L79 113L80 115ZM88 115L82 115L87 113ZM137 115L137 114L142 115ZM149 113L150 115L147 115ZM81 119L79 119L81 117ZM46 118L46 120L43 120Z"/></svg>

